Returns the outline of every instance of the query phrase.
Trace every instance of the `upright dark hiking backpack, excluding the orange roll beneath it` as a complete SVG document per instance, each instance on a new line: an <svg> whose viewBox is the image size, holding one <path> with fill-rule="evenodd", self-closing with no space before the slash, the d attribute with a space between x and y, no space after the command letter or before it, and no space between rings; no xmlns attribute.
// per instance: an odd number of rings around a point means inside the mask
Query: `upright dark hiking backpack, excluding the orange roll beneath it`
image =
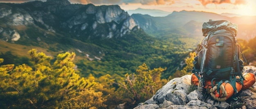
<svg viewBox="0 0 256 109"><path fill-rule="evenodd" d="M243 84L243 60L247 61L237 43L237 31L238 25L227 20L209 20L203 23L204 39L198 55L194 58L192 69L197 76L203 71L202 81L214 79L222 82L228 80L235 90L236 81ZM207 52L205 52L206 50ZM240 59L240 54L242 54L243 60ZM237 80L236 76L239 76L240 80Z"/></svg>

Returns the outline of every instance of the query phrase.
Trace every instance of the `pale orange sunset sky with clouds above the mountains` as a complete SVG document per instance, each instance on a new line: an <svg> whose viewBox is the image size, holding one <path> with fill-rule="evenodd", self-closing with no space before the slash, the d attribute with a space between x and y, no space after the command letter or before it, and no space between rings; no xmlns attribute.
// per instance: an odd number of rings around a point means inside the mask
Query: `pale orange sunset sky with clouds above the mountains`
<svg viewBox="0 0 256 109"><path fill-rule="evenodd" d="M0 2L22 3L34 0L0 0ZM46 1L46 0L41 0ZM69 0L72 4L119 5L124 10L157 9L173 11L204 11L212 13L234 13L256 16L256 0Z"/></svg>

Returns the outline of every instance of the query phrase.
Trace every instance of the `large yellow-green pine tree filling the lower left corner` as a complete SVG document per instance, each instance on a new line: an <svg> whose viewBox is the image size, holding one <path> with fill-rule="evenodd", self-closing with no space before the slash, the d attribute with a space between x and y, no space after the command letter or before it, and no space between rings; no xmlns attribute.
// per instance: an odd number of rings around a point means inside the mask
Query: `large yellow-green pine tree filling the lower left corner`
<svg viewBox="0 0 256 109"><path fill-rule="evenodd" d="M32 49L28 54L31 66L0 66L1 108L70 108L65 102L85 109L106 107L102 93L93 90L96 83L75 73L74 52L58 54L53 65L43 52Z"/></svg>

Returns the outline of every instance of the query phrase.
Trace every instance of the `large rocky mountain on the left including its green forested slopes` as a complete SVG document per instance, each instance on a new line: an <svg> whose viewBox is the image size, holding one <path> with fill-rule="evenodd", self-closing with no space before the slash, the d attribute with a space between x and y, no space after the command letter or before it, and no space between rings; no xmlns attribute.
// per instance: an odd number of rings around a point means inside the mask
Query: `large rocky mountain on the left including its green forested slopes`
<svg viewBox="0 0 256 109"><path fill-rule="evenodd" d="M149 36L118 5L68 0L0 3L0 13L2 65L22 64L27 51L36 48L53 57L75 52L77 71L84 77L120 78L147 63L149 68L167 68L162 78L168 78L182 68L189 52L178 40L174 44Z"/></svg>

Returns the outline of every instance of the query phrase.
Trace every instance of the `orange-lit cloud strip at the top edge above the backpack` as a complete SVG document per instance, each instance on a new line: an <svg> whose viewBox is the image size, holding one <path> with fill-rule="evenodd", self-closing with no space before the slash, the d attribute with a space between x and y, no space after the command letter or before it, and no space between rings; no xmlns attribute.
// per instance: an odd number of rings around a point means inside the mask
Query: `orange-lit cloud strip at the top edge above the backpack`
<svg viewBox="0 0 256 109"><path fill-rule="evenodd" d="M246 0L235 0L235 2L231 2L231 0L198 0L202 3L203 6L207 4L222 4L222 3L229 3L229 4L246 4Z"/></svg>

